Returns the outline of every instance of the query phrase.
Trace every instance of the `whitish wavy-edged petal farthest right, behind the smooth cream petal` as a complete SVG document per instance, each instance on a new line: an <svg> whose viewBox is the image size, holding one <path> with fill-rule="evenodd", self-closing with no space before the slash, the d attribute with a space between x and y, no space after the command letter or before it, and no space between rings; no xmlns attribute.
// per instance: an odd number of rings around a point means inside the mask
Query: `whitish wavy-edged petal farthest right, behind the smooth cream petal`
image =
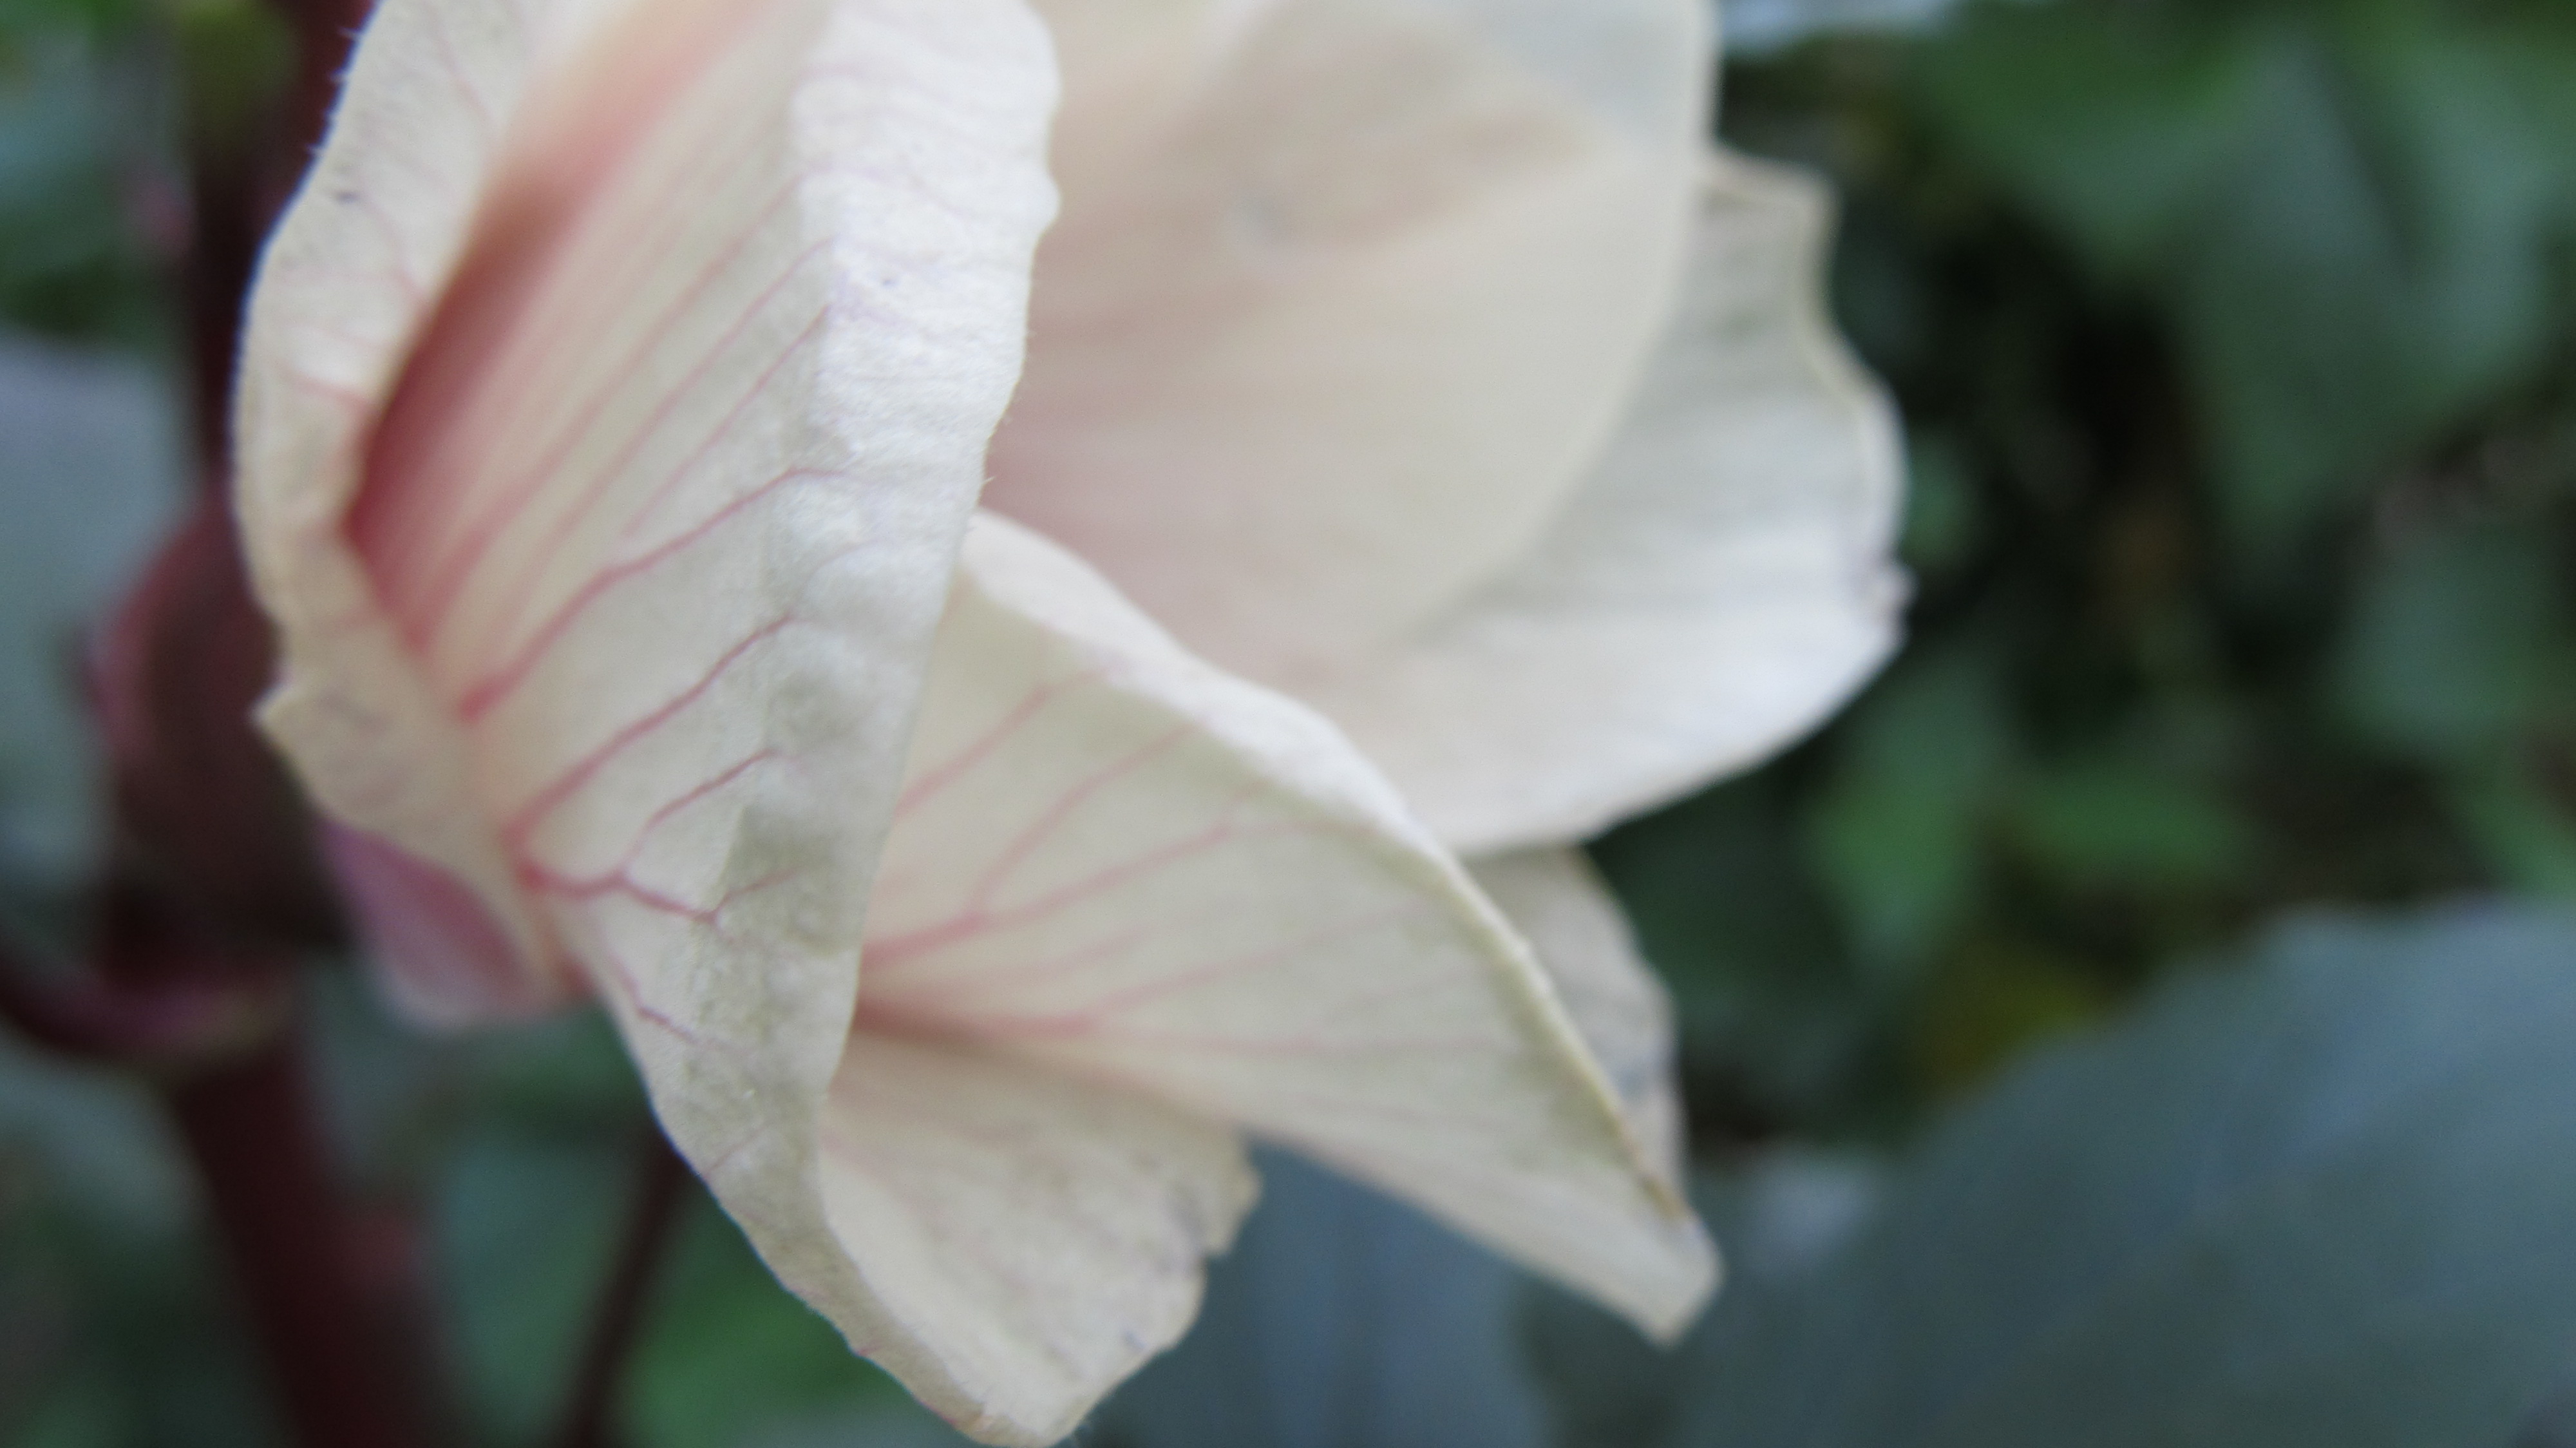
<svg viewBox="0 0 2576 1448"><path fill-rule="evenodd" d="M1298 693L1461 850L1592 835L1811 729L1896 644L1904 459L1824 312L1829 204L1713 157L1682 314L1512 572Z"/></svg>

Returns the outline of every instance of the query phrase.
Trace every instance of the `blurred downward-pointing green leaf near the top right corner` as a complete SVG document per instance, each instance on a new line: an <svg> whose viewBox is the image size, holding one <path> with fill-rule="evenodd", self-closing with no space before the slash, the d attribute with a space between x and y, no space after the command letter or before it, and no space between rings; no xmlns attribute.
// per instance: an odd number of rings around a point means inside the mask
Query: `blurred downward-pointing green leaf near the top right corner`
<svg viewBox="0 0 2576 1448"><path fill-rule="evenodd" d="M2303 528L2540 358L2550 242L2514 119L2437 31L2264 31L2251 137L2169 278L2241 538ZM2458 70L2468 75L2458 75ZM2437 75L2434 75L2437 72Z"/></svg>

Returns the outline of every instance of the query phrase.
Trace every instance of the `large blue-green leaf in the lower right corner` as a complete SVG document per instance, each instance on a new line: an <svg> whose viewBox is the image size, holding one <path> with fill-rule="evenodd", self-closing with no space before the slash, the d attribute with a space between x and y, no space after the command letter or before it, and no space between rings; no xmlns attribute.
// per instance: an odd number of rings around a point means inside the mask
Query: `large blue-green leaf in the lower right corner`
<svg viewBox="0 0 2576 1448"><path fill-rule="evenodd" d="M1695 1332L1674 1445L2486 1448L2576 1348L2576 920L2280 930Z"/></svg>

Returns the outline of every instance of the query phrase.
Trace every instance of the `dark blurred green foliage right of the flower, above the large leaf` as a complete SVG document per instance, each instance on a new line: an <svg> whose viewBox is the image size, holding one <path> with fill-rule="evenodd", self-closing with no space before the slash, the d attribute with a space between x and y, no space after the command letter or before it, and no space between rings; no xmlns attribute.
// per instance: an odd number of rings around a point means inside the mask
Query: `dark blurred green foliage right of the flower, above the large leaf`
<svg viewBox="0 0 2576 1448"><path fill-rule="evenodd" d="M1996 0L1726 82L1842 188L1919 593L1597 848L1703 1144L1904 1134L2285 907L2576 891L2576 10Z"/></svg>

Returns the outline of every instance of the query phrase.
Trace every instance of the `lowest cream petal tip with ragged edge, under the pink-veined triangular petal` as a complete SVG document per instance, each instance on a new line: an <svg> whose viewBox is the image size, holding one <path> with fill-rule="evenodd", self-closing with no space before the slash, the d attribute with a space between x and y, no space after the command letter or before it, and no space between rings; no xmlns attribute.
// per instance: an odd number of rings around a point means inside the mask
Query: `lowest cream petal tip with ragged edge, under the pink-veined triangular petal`
<svg viewBox="0 0 2576 1448"><path fill-rule="evenodd" d="M953 1043L858 1033L822 1193L886 1335L855 1348L987 1443L1056 1443L1198 1314L1255 1177L1224 1126Z"/></svg>

